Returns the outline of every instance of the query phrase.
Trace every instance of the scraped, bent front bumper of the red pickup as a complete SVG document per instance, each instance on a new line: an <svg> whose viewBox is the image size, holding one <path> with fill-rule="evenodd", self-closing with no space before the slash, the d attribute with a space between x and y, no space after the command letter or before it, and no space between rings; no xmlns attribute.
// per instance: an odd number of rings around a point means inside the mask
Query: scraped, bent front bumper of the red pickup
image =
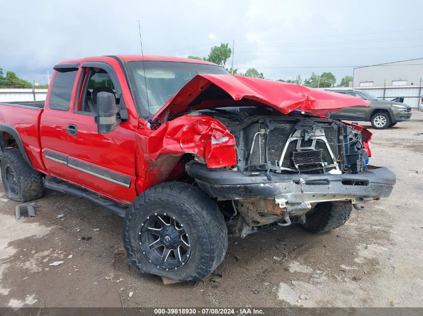
<svg viewBox="0 0 423 316"><path fill-rule="evenodd" d="M190 162L189 176L200 188L219 200L276 198L289 203L346 201L354 203L388 197L396 182L395 174L386 167L362 171L358 174L272 174L244 176L231 170L208 169Z"/></svg>

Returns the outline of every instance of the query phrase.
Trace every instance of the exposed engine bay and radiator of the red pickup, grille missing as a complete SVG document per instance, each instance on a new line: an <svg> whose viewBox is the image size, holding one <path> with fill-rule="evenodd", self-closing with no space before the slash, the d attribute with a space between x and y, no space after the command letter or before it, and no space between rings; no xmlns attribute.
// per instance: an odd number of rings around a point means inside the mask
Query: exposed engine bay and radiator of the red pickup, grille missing
<svg viewBox="0 0 423 316"><path fill-rule="evenodd" d="M198 111L216 118L236 140L238 170L247 175L341 174L366 169L361 133L338 120L272 109Z"/></svg>

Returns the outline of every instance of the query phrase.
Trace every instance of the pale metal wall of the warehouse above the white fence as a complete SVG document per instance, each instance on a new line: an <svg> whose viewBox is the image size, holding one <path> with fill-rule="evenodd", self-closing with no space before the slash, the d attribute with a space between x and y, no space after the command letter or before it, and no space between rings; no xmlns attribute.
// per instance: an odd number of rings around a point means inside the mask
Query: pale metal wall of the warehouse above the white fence
<svg viewBox="0 0 423 316"><path fill-rule="evenodd" d="M423 58L389 62L380 65L354 68L353 86L360 82L373 82L372 86L392 85L394 80L406 80L407 85L419 85L423 78ZM360 88L363 88L361 86Z"/></svg>

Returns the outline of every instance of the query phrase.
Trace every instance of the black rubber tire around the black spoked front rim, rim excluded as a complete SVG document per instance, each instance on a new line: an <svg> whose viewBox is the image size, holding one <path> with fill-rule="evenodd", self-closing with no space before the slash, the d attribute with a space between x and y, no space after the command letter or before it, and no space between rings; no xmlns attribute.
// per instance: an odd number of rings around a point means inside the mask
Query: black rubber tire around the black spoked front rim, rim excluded
<svg viewBox="0 0 423 316"><path fill-rule="evenodd" d="M140 246L141 225L154 212L171 212L189 232L191 254L178 270L165 271L149 262ZM223 261L228 233L217 204L192 185L167 182L139 195L126 211L123 243L131 264L139 271L179 281L202 281Z"/></svg>

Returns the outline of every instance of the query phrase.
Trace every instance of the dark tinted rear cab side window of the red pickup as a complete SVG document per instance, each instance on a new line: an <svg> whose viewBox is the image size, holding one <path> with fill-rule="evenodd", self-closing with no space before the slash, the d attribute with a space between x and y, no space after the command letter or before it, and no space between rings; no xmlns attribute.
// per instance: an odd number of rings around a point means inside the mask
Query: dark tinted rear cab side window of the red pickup
<svg viewBox="0 0 423 316"><path fill-rule="evenodd" d="M50 94L50 108L67 111L71 106L71 94L74 87L77 70L56 72Z"/></svg>

